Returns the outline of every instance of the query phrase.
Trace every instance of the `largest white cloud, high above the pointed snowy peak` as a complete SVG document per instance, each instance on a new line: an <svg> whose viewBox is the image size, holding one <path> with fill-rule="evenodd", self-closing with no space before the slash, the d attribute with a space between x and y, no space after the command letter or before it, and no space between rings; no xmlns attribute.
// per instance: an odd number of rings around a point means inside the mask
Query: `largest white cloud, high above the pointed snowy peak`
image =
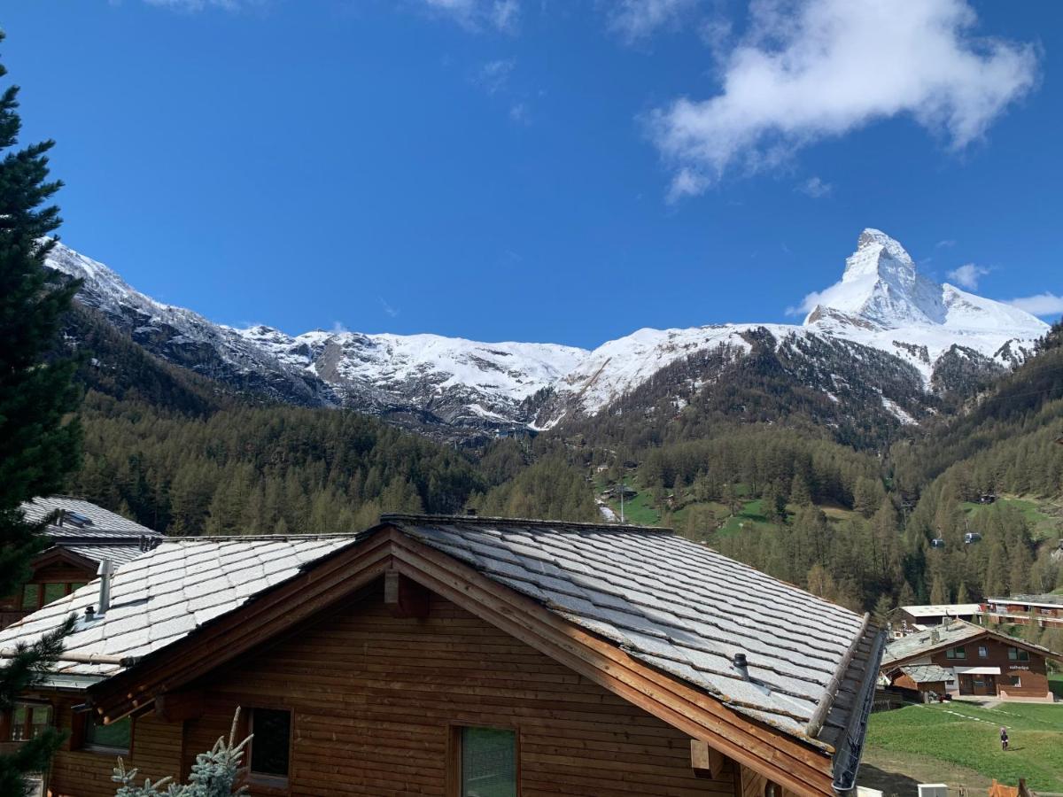
<svg viewBox="0 0 1063 797"><path fill-rule="evenodd" d="M673 198L896 116L959 150L1036 80L1034 48L974 36L966 0L754 0L749 13L722 55L720 94L649 118Z"/></svg>

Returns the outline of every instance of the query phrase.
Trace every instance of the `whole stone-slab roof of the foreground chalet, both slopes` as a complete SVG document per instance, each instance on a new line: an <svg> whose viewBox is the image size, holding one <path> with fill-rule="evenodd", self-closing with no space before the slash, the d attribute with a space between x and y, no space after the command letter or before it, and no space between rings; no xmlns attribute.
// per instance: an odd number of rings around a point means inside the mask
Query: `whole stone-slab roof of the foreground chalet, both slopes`
<svg viewBox="0 0 1063 797"><path fill-rule="evenodd" d="M170 538L117 572L105 618L84 617L97 601L94 582L0 631L0 649L73 612L81 618L60 673L102 680L386 528L833 753L843 782L855 776L881 655L881 634L867 615L667 529L386 515L361 535ZM737 654L745 655L747 672L736 664Z"/></svg>

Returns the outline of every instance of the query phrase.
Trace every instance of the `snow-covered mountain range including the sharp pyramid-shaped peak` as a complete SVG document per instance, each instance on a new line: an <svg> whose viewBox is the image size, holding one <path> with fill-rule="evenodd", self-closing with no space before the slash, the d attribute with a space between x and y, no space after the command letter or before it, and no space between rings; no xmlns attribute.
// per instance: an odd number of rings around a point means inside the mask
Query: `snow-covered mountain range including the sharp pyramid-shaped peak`
<svg viewBox="0 0 1063 797"><path fill-rule="evenodd" d="M846 386L866 381L868 368L900 374L909 390L890 396L880 389L878 395L884 410L906 423L928 411L923 394L950 389L967 372L1013 367L1048 328L1014 307L919 274L900 243L877 230L860 234L841 281L814 294L816 305L802 325L639 329L593 351L436 335L319 329L292 337L268 326L237 329L156 302L62 244L49 264L82 278L84 304L166 359L239 389L299 404L354 407L444 436L549 428L590 417L687 360L702 363L703 371L718 370L685 377L687 390L708 390L724 363L740 360L755 344L763 347L765 340L773 341L795 379L834 402L866 401ZM687 401L675 400L676 406Z"/></svg>

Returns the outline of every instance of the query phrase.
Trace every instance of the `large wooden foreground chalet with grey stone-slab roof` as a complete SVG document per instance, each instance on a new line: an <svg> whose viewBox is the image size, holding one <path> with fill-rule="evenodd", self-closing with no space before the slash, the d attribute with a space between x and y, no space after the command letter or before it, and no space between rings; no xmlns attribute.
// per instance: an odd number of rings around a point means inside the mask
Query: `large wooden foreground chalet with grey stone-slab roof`
<svg viewBox="0 0 1063 797"><path fill-rule="evenodd" d="M169 539L0 632L80 620L26 695L48 787L184 776L241 707L252 795L855 792L882 634L667 529L386 515ZM89 608L94 611L87 613Z"/></svg>

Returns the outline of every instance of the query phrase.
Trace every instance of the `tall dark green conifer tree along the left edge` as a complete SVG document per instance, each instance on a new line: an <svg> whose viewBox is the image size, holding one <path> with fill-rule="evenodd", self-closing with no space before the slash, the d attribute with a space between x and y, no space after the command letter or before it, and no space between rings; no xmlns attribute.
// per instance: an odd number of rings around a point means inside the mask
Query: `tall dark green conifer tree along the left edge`
<svg viewBox="0 0 1063 797"><path fill-rule="evenodd" d="M48 181L52 141L14 149L21 126L17 96L16 86L0 94L0 595L21 586L45 544L21 503L57 492L80 455L80 427L64 422L78 405L74 364L48 356L78 285L58 285L44 266L54 245L46 236L60 223L58 209L46 203L60 183ZM0 664L0 710L44 679L70 627L68 622ZM0 794L21 794L24 776L46 768L61 742L48 730L0 757Z"/></svg>

